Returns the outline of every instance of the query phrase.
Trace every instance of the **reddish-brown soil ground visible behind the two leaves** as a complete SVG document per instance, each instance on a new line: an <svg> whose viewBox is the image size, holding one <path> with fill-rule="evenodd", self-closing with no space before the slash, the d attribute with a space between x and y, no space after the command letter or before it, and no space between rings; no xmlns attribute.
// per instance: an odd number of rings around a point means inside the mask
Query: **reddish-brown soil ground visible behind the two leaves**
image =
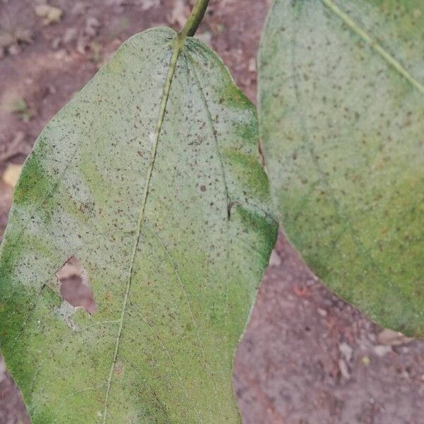
<svg viewBox="0 0 424 424"><path fill-rule="evenodd" d="M63 14L45 25L36 4L0 0L0 174L23 163L42 127L126 38L178 29L189 11L183 0L52 0ZM252 101L268 7L211 0L198 31ZM0 235L11 196L1 181ZM246 424L420 424L424 342L383 331L332 295L281 233L237 349L234 386ZM28 422L0 362L0 424Z"/></svg>

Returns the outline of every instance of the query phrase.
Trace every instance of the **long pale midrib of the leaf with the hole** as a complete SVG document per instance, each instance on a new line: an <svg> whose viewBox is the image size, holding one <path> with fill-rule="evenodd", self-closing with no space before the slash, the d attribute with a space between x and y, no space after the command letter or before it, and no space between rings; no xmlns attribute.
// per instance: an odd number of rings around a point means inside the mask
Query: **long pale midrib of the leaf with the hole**
<svg viewBox="0 0 424 424"><path fill-rule="evenodd" d="M137 219L137 223L136 223L136 235L134 237L135 242L134 242L133 250L131 252L131 261L130 261L131 267L129 269L129 275L128 275L128 278L126 280L126 288L125 288L124 300L122 302L121 317L119 318L119 329L118 329L117 338L116 338L116 342L115 342L114 355L113 355L113 359L112 359L112 365L110 367L109 376L107 377L105 406L103 408L103 414L102 414L102 423L103 424L105 424L106 420L107 420L107 406L108 406L109 395L110 395L110 387L111 387L111 384L112 384L114 367L117 363L117 356L118 356L118 352L119 352L119 343L121 341L122 329L123 329L123 326L124 326L124 317L125 317L125 313L126 313L126 306L128 304L129 292L131 290L131 278L132 278L132 274L133 274L133 271L134 271L134 260L135 260L135 257L136 257L137 247L139 245L139 238L140 238L140 234L141 234L141 224L143 223L144 213L146 211L148 190L149 190L151 177L152 177L152 173L153 173L153 166L155 164L156 152L158 150L160 132L162 130L163 121L164 121L164 118L165 118L167 100L168 100L169 95L170 95L172 78L175 74L175 69L177 67L178 57L179 57L180 52L182 51L182 46L184 46L185 39L186 39L186 37L179 37L179 35L177 35L172 42L172 56L171 56L171 59L170 59L170 64L169 64L169 69L168 69L168 72L167 72L167 77L165 79L165 84L163 86L163 94L162 94L162 98L160 100L159 117L158 117L158 122L156 123L156 128L155 128L155 139L153 141L153 146L152 146L152 149L151 149L151 160L150 160L150 163L148 165L148 170L147 170L145 184L144 184L143 197L141 199L141 208L140 208L139 218Z"/></svg>

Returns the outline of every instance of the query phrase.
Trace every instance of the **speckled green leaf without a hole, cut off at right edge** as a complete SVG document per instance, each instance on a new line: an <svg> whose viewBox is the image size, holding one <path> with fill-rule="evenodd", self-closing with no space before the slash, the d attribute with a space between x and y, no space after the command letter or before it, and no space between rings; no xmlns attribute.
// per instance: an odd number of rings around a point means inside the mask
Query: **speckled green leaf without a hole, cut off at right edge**
<svg viewBox="0 0 424 424"><path fill-rule="evenodd" d="M276 0L261 139L290 242L331 290L424 336L420 0Z"/></svg>

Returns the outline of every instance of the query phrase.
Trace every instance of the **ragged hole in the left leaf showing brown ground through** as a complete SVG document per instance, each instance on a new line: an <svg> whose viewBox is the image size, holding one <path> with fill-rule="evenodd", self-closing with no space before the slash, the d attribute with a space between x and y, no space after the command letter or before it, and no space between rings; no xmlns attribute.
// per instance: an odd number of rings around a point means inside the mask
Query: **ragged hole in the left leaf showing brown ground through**
<svg viewBox="0 0 424 424"><path fill-rule="evenodd" d="M87 272L76 257L70 257L57 271L56 276L61 282L61 297L66 302L73 307L83 307L91 315L98 310L93 290L88 286Z"/></svg>

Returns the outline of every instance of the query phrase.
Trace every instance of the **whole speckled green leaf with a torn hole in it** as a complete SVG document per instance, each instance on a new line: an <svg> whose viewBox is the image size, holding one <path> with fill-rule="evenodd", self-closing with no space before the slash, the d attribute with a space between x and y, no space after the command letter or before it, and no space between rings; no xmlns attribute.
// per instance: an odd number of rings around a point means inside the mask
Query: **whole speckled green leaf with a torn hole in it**
<svg viewBox="0 0 424 424"><path fill-rule="evenodd" d="M134 35L52 119L1 246L0 343L33 423L234 423L276 239L254 107L206 45ZM179 53L180 51L180 53ZM62 301L78 259L98 310Z"/></svg>

